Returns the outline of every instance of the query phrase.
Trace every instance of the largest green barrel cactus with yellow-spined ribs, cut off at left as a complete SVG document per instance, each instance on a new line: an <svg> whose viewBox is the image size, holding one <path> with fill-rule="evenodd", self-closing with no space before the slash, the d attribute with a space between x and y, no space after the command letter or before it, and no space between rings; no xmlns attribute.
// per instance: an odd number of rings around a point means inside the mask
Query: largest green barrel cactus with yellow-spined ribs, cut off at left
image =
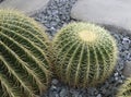
<svg viewBox="0 0 131 97"><path fill-rule="evenodd" d="M33 19L0 10L0 97L37 97L46 90L49 46Z"/></svg>

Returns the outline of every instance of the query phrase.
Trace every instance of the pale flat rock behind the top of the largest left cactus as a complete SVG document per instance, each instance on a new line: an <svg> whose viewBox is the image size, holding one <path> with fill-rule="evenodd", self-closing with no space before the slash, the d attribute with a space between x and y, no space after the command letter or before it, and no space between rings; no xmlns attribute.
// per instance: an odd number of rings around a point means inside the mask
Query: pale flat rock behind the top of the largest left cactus
<svg viewBox="0 0 131 97"><path fill-rule="evenodd" d="M34 14L40 9L45 9L49 0L4 0L0 3L0 9L15 9L26 14Z"/></svg>

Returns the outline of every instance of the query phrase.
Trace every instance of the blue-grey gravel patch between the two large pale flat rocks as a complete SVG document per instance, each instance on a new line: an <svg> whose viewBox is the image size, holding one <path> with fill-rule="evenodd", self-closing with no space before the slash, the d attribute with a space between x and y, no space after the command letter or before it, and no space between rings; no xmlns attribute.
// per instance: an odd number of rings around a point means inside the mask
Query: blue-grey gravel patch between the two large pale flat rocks
<svg viewBox="0 0 131 97"><path fill-rule="evenodd" d="M70 23L71 8L76 0L50 0L46 10L32 15L46 26L48 34L53 36L63 25Z"/></svg>

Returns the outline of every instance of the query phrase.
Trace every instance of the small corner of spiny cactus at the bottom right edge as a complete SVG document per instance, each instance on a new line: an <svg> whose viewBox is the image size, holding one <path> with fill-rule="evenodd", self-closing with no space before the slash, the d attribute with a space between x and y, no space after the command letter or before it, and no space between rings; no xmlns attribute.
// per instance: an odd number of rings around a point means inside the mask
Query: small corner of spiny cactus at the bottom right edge
<svg viewBox="0 0 131 97"><path fill-rule="evenodd" d="M119 87L116 97L131 97L131 77Z"/></svg>

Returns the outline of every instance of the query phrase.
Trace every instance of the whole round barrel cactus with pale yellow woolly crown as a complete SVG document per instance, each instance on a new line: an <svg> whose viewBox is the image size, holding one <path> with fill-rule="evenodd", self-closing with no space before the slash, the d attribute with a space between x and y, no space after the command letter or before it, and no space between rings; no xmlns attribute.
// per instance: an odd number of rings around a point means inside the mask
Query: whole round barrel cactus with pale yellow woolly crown
<svg viewBox="0 0 131 97"><path fill-rule="evenodd" d="M53 39L59 78L74 87L95 86L114 71L117 44L104 28L90 23L71 23Z"/></svg>

